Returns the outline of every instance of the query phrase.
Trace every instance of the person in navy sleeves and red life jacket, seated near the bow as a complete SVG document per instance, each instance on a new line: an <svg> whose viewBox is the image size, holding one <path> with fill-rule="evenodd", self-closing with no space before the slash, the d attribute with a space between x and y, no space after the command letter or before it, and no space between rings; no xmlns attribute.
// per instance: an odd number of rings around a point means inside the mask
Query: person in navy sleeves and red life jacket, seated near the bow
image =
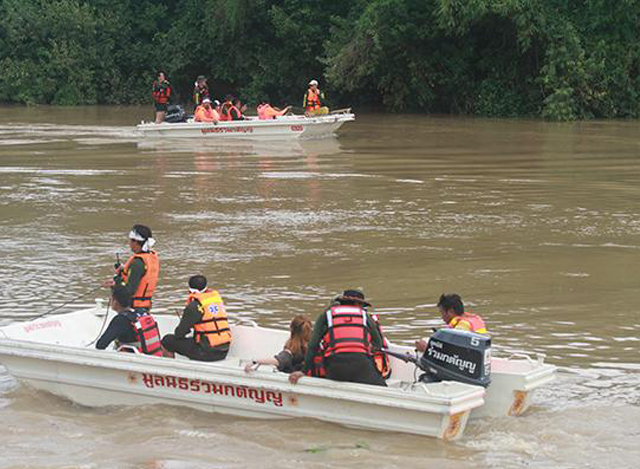
<svg viewBox="0 0 640 469"><path fill-rule="evenodd" d="M131 309L131 294L123 285L114 285L109 305L116 314L107 330L96 342L98 350L106 349L112 342L135 346L140 353L162 356L160 331L149 313L137 313Z"/></svg>

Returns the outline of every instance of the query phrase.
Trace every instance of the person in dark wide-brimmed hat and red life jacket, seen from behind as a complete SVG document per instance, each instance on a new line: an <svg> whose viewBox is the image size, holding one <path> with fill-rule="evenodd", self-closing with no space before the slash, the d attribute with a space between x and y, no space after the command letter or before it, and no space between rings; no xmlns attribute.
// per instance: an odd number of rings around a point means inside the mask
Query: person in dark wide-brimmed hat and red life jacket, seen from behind
<svg viewBox="0 0 640 469"><path fill-rule="evenodd" d="M386 386L373 361L382 337L366 308L371 306L358 290L345 290L316 320L301 371L289 375L296 384L314 366L320 342L324 343L326 376L336 381Z"/></svg>

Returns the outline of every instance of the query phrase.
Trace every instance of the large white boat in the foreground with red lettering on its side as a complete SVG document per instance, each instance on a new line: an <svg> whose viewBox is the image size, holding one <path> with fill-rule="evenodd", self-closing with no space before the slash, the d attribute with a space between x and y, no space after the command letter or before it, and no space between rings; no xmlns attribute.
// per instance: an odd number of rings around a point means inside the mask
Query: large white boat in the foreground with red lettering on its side
<svg viewBox="0 0 640 469"><path fill-rule="evenodd" d="M485 389L480 386L454 381L415 383L413 370L396 359L387 388L311 377L292 385L286 374L271 367L247 374L244 366L251 359L272 356L288 337L286 331L255 323L233 325L229 354L214 363L99 351L92 343L105 313L98 301L91 309L1 327L0 362L23 383L87 406L163 403L267 419L310 417L446 440L460 438L471 412L482 409L485 402ZM172 331L178 321L175 316L156 318L162 333ZM527 375L544 370L548 380L553 367L527 360L522 367L520 361L507 362L504 371L494 371L489 394L510 394L506 398L510 401L514 383L529 383L529 388L522 388L529 394L516 409L524 410L530 392L545 382L528 381ZM506 373L505 379L496 376L501 373ZM489 413L507 413L502 401L496 397Z"/></svg>

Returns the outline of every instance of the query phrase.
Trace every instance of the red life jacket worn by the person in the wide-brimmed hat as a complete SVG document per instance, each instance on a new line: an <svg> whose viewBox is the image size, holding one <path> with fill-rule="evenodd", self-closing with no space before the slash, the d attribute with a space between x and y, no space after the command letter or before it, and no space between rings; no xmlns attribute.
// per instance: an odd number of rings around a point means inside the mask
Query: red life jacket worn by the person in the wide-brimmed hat
<svg viewBox="0 0 640 469"><path fill-rule="evenodd" d="M371 356L371 335L367 312L360 306L339 305L327 310L324 356L364 353Z"/></svg>

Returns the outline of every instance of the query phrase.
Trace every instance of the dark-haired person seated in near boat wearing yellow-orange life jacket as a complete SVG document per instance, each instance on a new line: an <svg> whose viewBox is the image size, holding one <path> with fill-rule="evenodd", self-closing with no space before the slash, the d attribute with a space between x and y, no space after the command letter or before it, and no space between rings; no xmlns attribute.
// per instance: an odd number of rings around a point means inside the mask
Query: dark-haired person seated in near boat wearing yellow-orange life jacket
<svg viewBox="0 0 640 469"><path fill-rule="evenodd" d="M187 337L193 331L193 337ZM187 306L174 334L162 338L162 346L173 356L213 362L224 360L231 345L231 330L220 294L207 288L204 275L189 279Z"/></svg>

